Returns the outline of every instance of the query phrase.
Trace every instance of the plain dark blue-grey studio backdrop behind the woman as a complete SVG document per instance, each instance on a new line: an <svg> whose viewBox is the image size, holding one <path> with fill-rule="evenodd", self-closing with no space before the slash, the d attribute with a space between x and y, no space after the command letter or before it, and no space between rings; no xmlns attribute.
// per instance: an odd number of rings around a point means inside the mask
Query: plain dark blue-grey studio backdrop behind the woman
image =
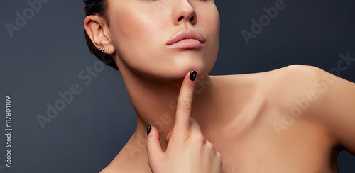
<svg viewBox="0 0 355 173"><path fill-rule="evenodd" d="M33 0L31 0L33 1ZM211 75L264 72L292 64L337 67L339 54L355 57L354 1L285 0L287 7L246 45L241 30L264 14L273 0L216 1L221 16L219 57ZM133 107L119 72L104 67L92 82L78 74L97 61L84 40L84 2L51 0L10 37L26 1L1 1L0 103L12 100L12 164L0 172L99 172L111 162L136 128ZM355 63L340 77L355 82ZM58 92L78 84L82 92L42 129L36 116ZM5 133L0 106L0 131ZM4 165L5 136L0 138ZM312 157L312 153L310 153ZM339 171L355 172L355 158L339 155Z"/></svg>

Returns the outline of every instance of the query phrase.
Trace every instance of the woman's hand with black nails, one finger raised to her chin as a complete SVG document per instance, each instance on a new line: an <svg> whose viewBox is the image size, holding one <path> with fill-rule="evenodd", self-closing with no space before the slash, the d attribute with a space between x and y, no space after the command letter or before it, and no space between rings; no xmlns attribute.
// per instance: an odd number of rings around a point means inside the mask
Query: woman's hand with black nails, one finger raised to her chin
<svg viewBox="0 0 355 173"><path fill-rule="evenodd" d="M175 124L165 138L163 152L158 130L151 127L146 141L148 161L153 173L222 172L222 157L201 133L200 126L191 118L192 96L196 72L186 74L178 98ZM149 127L148 127L149 128ZM149 130L148 130L149 131Z"/></svg>

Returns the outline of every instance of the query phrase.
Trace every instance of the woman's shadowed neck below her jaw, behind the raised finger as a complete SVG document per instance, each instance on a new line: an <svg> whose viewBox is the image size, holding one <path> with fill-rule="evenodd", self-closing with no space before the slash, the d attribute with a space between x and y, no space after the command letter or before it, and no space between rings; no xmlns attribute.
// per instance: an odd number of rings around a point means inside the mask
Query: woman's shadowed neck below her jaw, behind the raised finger
<svg viewBox="0 0 355 173"><path fill-rule="evenodd" d="M140 141L144 140L145 142L146 128L148 125L152 125L158 129L160 143L165 151L167 146L165 137L173 129L183 77L166 82L162 79L142 77L124 67L119 69L136 111L137 129L130 141L141 143ZM211 96L211 91L211 80L208 74L204 76L200 74L197 77L192 101L193 111L191 116L196 120L201 115L206 116L206 113L202 113L202 111L207 101L212 100L208 99Z"/></svg>

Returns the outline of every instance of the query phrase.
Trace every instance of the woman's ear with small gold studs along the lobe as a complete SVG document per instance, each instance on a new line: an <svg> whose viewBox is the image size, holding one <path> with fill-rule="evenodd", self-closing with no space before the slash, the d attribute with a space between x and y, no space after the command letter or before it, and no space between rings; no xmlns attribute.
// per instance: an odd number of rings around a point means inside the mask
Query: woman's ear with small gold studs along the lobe
<svg viewBox="0 0 355 173"><path fill-rule="evenodd" d="M109 48L109 50L102 51L109 55L115 52L114 45L109 39L109 28L103 18L97 15L87 16L84 20L84 28L98 50L99 48Z"/></svg>

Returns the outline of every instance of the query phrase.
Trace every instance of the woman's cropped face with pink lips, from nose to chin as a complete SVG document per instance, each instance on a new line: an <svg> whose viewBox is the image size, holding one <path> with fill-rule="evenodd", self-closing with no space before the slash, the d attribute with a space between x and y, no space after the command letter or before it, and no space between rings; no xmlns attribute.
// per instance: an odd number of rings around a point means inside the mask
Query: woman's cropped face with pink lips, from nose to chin
<svg viewBox="0 0 355 173"><path fill-rule="evenodd" d="M214 0L108 3L109 35L119 52L119 67L163 79L179 79L191 70L205 75L212 69L219 42L219 13ZM182 38L173 39L175 35Z"/></svg>

